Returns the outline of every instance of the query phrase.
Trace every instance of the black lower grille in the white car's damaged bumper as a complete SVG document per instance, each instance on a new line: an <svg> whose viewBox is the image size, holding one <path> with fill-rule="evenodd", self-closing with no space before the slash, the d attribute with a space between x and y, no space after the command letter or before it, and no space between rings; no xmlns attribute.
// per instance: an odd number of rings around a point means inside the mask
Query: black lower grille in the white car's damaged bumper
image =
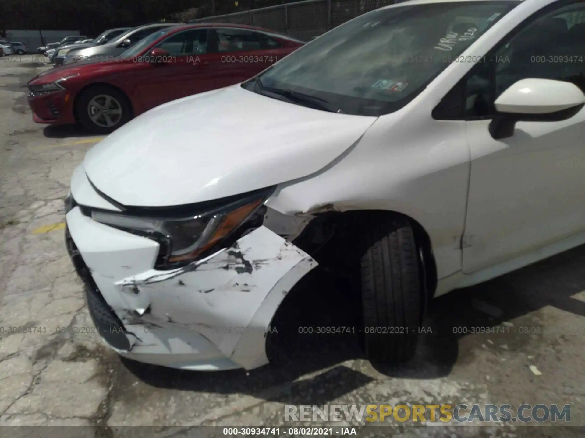
<svg viewBox="0 0 585 438"><path fill-rule="evenodd" d="M126 331L118 316L109 307L108 303L102 297L94 279L91 276L90 269L85 265L83 258L68 228L65 228L65 244L67 252L75 266L78 276L83 281L85 296L87 297L87 307L90 310L91 319L94 321L95 327L99 334L104 338L109 345L119 350L129 350L130 342L126 337Z"/></svg>

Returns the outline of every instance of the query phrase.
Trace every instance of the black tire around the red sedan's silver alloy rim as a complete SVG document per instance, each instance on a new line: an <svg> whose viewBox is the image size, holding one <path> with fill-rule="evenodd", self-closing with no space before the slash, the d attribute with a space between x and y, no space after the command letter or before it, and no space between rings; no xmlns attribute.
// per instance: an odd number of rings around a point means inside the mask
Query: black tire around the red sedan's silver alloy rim
<svg viewBox="0 0 585 438"><path fill-rule="evenodd" d="M91 119L90 102L92 102L92 99L96 98L97 96L110 96L113 99L112 102L115 102L112 105L116 105L121 109L122 113L120 114L119 119L116 117L116 123L113 126L100 126ZM82 91L77 98L77 102L75 103L75 114L77 116L77 120L80 121L82 126L84 126L84 128L91 133L95 134L109 134L117 128L121 127L123 124L127 123L133 117L130 100L124 93L116 88L113 88L113 86L108 85L94 85ZM115 115L117 116L118 114ZM110 120L113 119L111 118ZM99 121L106 123L104 119Z"/></svg>

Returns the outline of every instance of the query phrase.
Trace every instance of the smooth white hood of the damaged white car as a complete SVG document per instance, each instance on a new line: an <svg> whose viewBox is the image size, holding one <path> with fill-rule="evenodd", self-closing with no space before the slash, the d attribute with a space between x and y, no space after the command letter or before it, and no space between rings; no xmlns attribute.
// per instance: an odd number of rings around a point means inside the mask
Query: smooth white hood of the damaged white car
<svg viewBox="0 0 585 438"><path fill-rule="evenodd" d="M84 168L100 192L125 206L192 204L317 172L375 120L234 85L142 114L88 151Z"/></svg>

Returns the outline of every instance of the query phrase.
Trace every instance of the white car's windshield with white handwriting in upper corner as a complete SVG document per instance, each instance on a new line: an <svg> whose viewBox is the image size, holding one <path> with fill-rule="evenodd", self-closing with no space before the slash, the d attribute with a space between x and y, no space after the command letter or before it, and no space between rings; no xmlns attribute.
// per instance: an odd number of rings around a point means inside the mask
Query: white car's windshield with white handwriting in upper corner
<svg viewBox="0 0 585 438"><path fill-rule="evenodd" d="M518 4L441 2L377 9L311 41L243 86L267 95L287 91L318 98L346 114L394 112Z"/></svg>

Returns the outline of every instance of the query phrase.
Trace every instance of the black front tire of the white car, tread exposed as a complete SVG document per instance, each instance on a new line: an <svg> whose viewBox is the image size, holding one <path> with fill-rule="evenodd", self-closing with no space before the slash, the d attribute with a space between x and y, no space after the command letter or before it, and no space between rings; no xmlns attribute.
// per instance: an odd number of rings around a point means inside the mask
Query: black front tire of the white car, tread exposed
<svg viewBox="0 0 585 438"><path fill-rule="evenodd" d="M414 356L424 312L424 279L414 232L405 218L363 224L361 260L364 348L372 363Z"/></svg>

